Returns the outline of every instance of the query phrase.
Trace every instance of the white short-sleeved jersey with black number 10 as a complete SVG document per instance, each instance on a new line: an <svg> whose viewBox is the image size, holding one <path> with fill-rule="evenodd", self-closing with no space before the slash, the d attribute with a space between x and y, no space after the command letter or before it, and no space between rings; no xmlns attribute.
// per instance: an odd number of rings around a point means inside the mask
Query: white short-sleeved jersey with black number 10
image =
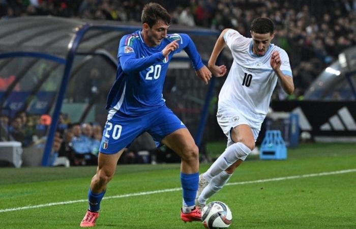
<svg viewBox="0 0 356 229"><path fill-rule="evenodd" d="M219 94L219 108L238 109L250 127L259 130L278 79L270 64L271 54L279 52L281 71L292 77L288 55L280 47L270 44L263 56L257 56L252 52L252 38L235 30L228 30L224 40L231 50L233 63Z"/></svg>

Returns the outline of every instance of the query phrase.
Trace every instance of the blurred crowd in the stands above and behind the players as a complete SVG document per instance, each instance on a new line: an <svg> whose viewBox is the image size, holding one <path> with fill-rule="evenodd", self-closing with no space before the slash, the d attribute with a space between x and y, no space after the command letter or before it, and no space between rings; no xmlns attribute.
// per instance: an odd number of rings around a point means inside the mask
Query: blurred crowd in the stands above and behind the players
<svg viewBox="0 0 356 229"><path fill-rule="evenodd" d="M142 6L151 1L130 0L2 0L0 16L53 15L85 19L140 21ZM338 54L356 44L356 0L260 1L182 0L155 1L172 16L173 24L203 26L217 30L235 28L250 37L250 23L270 17L276 24L276 45L287 51L293 70L295 93L302 99L316 76ZM276 94L275 99L285 99Z"/></svg>

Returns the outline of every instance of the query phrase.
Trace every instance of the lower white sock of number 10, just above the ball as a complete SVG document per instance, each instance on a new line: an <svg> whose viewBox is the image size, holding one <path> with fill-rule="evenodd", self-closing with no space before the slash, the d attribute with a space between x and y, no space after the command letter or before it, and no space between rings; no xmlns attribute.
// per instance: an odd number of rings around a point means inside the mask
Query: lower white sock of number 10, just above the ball
<svg viewBox="0 0 356 229"><path fill-rule="evenodd" d="M215 176L199 195L198 202L205 204L208 198L217 193L226 184L231 175L226 171L222 171L218 176Z"/></svg>

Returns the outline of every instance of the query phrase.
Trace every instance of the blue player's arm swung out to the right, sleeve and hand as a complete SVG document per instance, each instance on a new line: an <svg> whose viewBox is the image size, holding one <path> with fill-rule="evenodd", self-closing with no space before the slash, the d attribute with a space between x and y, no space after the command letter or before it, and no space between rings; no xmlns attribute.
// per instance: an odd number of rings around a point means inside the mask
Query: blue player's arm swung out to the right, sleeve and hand
<svg viewBox="0 0 356 229"><path fill-rule="evenodd" d="M192 61L193 67L195 69L195 74L207 84L212 78L212 73L210 70L203 64L201 57L195 47L192 39L186 34L180 34L182 37L182 48L188 54L190 60Z"/></svg>

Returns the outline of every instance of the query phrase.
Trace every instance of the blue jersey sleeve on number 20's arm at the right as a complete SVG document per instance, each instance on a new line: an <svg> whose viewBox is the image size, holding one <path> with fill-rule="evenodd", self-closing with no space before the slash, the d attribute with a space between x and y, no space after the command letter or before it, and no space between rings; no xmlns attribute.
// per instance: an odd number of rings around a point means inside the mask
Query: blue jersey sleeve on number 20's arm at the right
<svg viewBox="0 0 356 229"><path fill-rule="evenodd" d="M192 61L193 68L195 70L199 70L204 66L193 40L187 34L172 34L170 36L170 39L180 39L179 48L177 48L174 53L180 52L182 51L182 49L184 49L184 51L188 54L190 60Z"/></svg>

